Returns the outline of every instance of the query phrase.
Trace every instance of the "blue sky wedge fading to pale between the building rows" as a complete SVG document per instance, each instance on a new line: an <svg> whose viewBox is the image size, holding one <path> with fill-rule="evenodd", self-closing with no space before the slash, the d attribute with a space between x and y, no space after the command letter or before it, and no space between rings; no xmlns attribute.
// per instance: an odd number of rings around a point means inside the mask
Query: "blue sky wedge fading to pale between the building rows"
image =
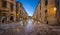
<svg viewBox="0 0 60 35"><path fill-rule="evenodd" d="M34 11L39 3L39 0L16 0L23 4L23 7L25 8L26 12L29 16L33 16Z"/></svg>

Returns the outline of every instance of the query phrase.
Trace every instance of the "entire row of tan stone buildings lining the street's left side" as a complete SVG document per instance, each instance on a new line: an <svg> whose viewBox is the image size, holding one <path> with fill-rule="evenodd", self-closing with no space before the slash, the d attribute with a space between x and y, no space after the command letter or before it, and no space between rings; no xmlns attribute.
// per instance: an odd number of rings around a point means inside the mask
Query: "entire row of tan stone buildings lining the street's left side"
<svg viewBox="0 0 60 35"><path fill-rule="evenodd" d="M0 23L9 23L28 18L23 5L16 0L0 0Z"/></svg>

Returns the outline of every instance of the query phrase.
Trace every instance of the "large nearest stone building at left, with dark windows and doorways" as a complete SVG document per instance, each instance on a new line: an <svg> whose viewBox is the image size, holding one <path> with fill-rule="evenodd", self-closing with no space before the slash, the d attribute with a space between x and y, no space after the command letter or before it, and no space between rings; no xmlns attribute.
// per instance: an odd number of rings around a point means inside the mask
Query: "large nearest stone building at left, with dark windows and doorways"
<svg viewBox="0 0 60 35"><path fill-rule="evenodd" d="M0 23L16 20L15 6L15 0L0 0Z"/></svg>

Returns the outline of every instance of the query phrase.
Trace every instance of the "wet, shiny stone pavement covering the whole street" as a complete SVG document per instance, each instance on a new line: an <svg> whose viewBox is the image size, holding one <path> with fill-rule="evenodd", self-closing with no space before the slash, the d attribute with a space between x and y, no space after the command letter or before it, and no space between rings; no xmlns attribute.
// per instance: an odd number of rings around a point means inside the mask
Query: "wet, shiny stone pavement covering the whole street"
<svg viewBox="0 0 60 35"><path fill-rule="evenodd" d="M50 26L29 19L0 25L0 35L60 35L60 26Z"/></svg>

